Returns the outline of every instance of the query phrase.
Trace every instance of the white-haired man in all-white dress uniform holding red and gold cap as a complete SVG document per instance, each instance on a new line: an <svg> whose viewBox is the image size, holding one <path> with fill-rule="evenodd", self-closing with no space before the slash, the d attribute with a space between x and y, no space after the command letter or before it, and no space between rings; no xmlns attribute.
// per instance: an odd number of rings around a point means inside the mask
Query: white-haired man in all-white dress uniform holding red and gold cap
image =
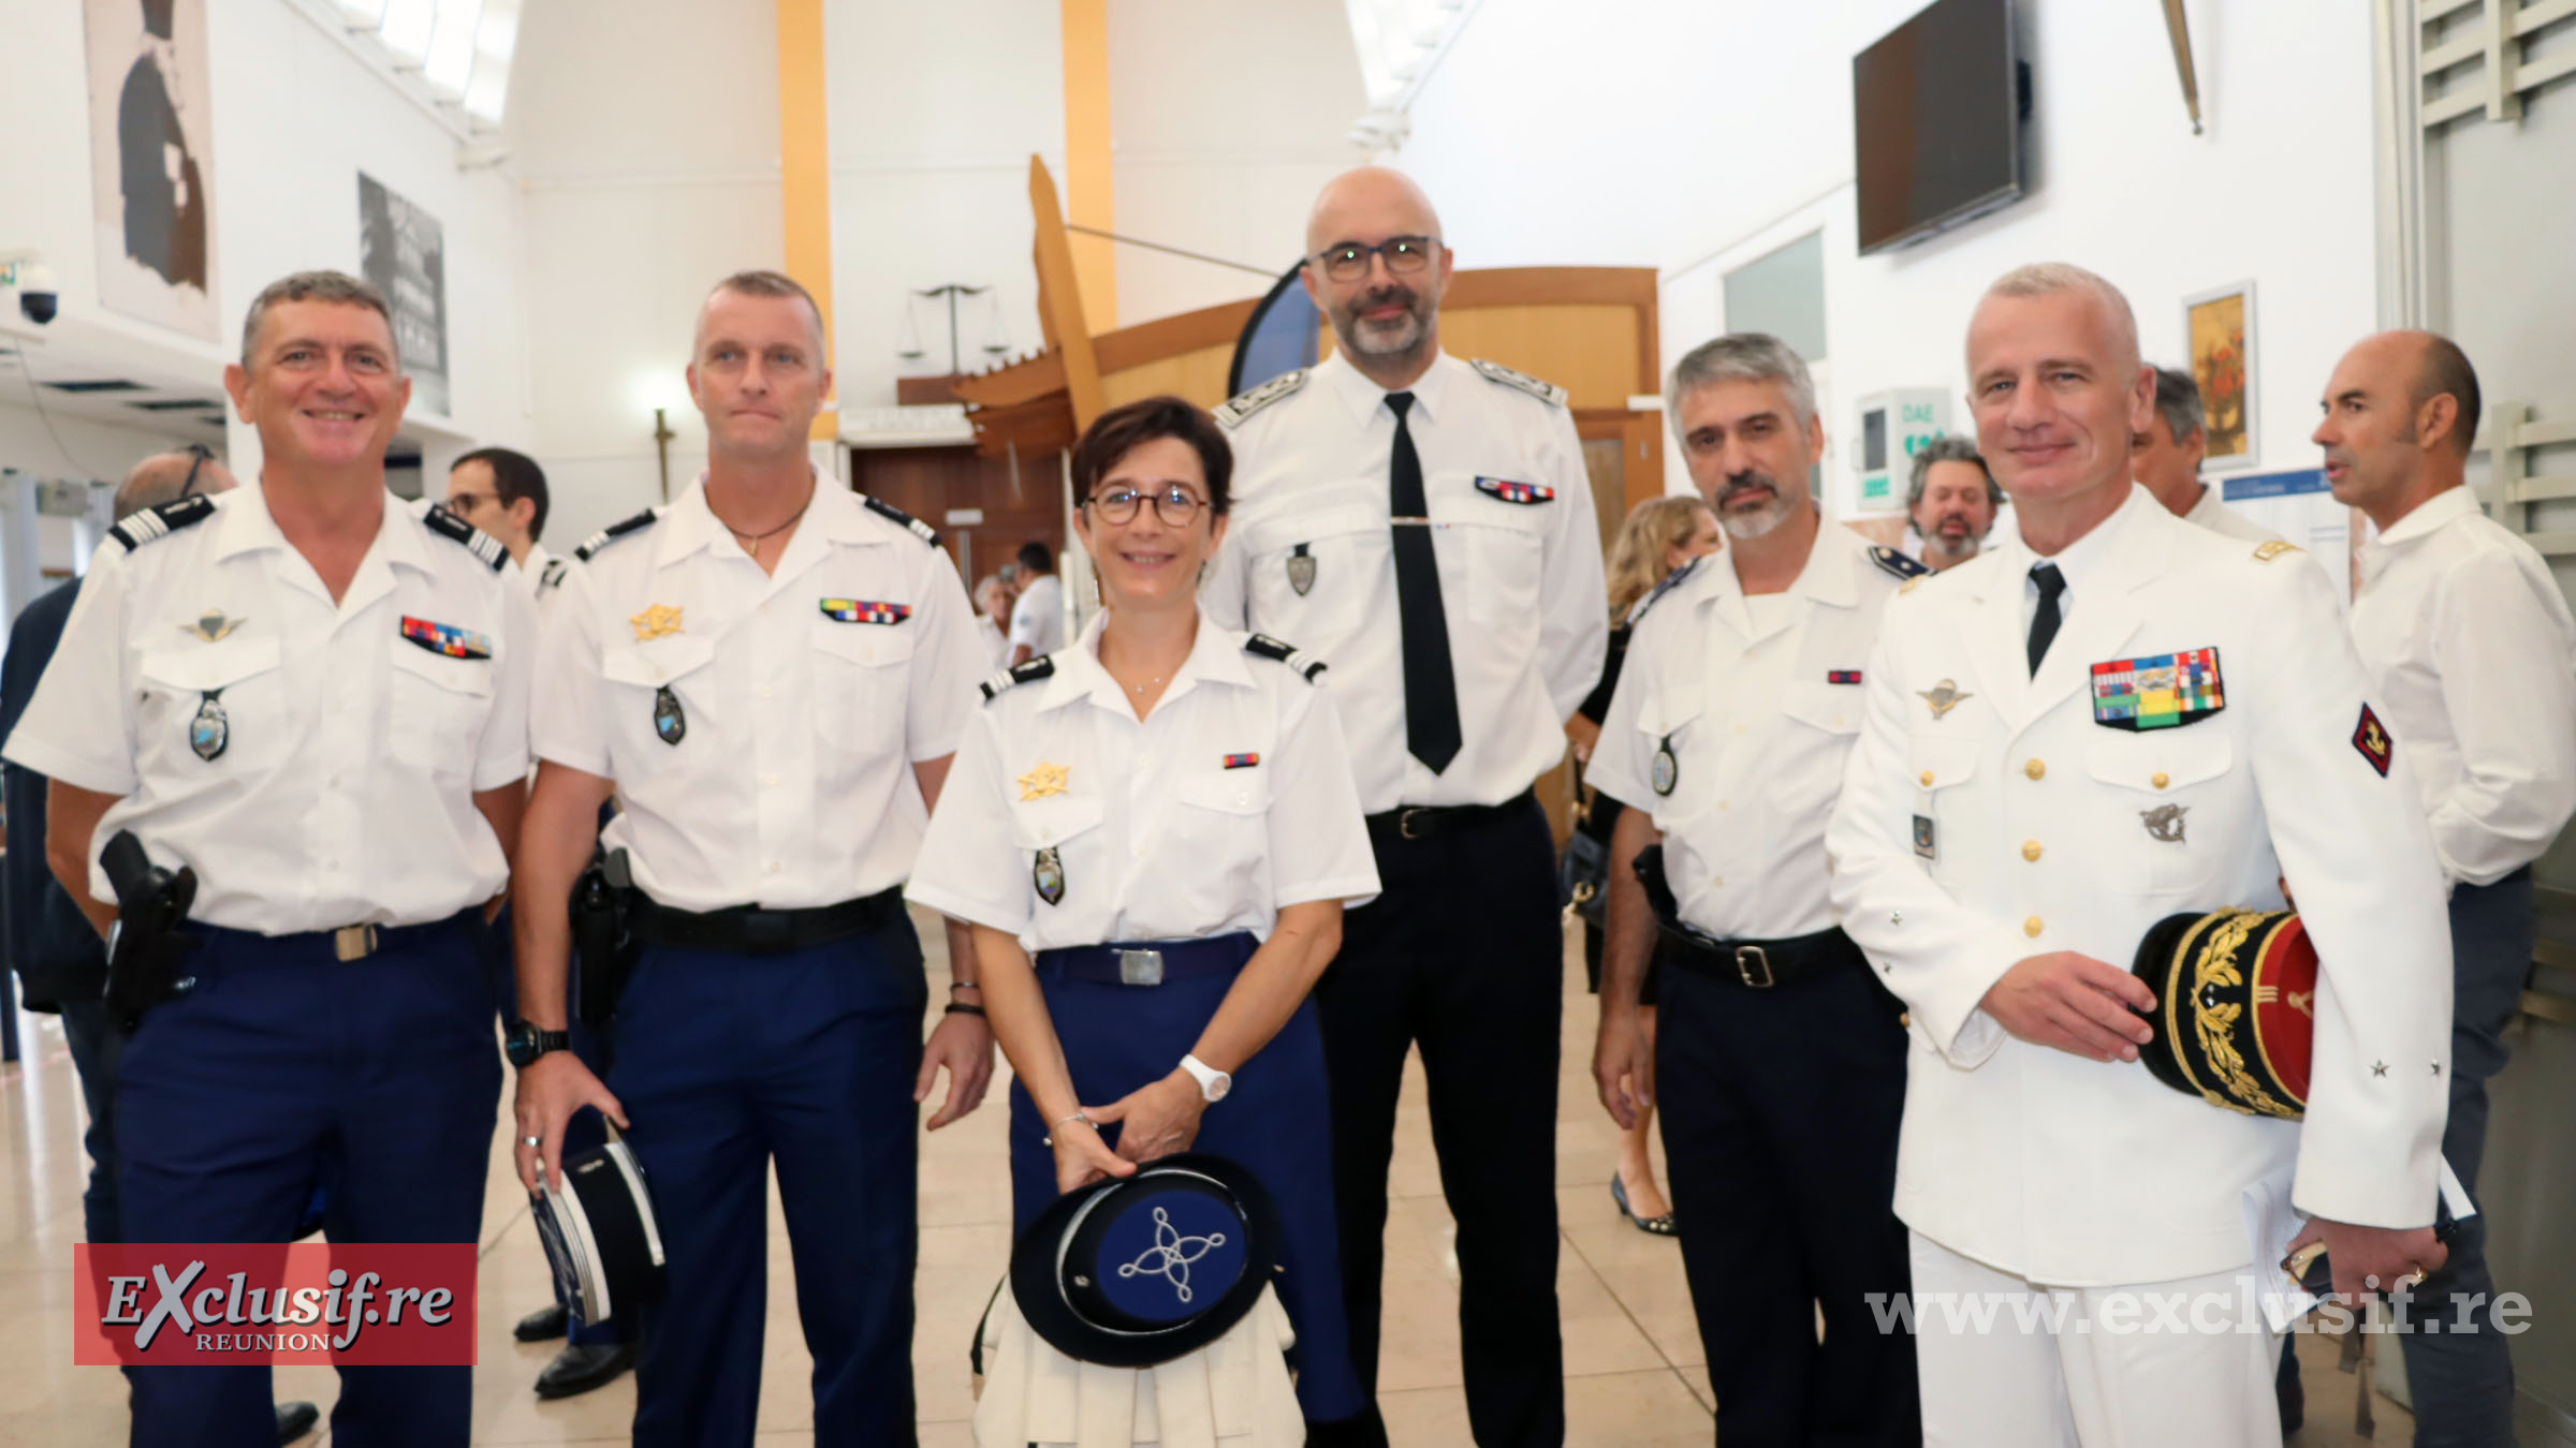
<svg viewBox="0 0 2576 1448"><path fill-rule="evenodd" d="M1911 1013L1924 1438L2272 1445L2280 1342L2241 1293L2285 1244L2249 1193L2311 1216L2336 1291L2442 1265L2450 938L2414 745L2321 569L2130 482L2154 374L2117 289L1999 278L1968 399L2017 528L1888 605L1826 832L1842 928ZM2136 685L2159 672L2190 688ZM2280 910L2280 879L2324 961L2300 1123L2156 1082L2130 974L2164 917Z"/></svg>

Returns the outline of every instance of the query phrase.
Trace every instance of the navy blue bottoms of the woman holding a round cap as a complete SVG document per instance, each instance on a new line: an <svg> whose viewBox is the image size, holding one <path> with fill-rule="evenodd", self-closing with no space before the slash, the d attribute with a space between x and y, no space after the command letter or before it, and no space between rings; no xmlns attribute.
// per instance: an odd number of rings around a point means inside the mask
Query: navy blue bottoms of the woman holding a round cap
<svg viewBox="0 0 2576 1448"><path fill-rule="evenodd" d="M1242 958L1249 961L1252 935L1239 940ZM1064 979L1061 969L1041 958L1038 987L1074 1074L1074 1098L1105 1105L1172 1074L1234 989L1234 976L1208 974L1157 987L1097 984ZM1309 1422L1342 1422L1368 1409L1342 1317L1329 1123L1324 1031L1309 1000L1234 1072L1234 1090L1198 1118L1198 1141L1190 1147L1249 1170L1278 1206L1285 1237L1278 1293L1296 1327L1296 1399ZM1118 1126L1105 1136L1115 1147ZM1056 1152L1046 1147L1046 1121L1028 1087L1012 1082L1012 1234L1028 1232L1056 1196Z"/></svg>

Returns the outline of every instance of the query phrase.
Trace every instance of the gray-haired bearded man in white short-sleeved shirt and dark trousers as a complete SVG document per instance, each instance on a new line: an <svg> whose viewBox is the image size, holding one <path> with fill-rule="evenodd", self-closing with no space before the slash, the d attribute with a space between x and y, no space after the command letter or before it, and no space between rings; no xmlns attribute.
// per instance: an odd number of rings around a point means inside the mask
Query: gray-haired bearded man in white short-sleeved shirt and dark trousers
<svg viewBox="0 0 2576 1448"><path fill-rule="evenodd" d="M1628 806L1592 1074L1623 1129L1662 1100L1718 1443L1911 1445L1914 1342L1870 1317L1906 1293L1904 1007L1834 925L1824 827L1880 611L1924 567L1816 510L1824 423L1777 338L1695 348L1667 415L1734 544L1633 616L1592 750L1589 783Z"/></svg>

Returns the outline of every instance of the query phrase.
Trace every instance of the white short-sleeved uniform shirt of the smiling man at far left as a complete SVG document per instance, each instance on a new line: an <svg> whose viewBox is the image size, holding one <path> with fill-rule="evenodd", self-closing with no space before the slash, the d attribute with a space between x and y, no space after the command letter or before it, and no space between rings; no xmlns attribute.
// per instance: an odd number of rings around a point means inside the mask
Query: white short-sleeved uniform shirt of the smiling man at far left
<svg viewBox="0 0 2576 1448"><path fill-rule="evenodd" d="M167 533L155 513L118 528L155 536L98 549L8 739L46 778L124 796L90 843L93 897L113 899L95 861L118 830L196 868L193 920L263 935L420 925L502 889L474 791L528 776L538 634L497 541L461 546L386 492L332 603L255 484ZM224 714L211 760L191 747L209 696Z"/></svg>

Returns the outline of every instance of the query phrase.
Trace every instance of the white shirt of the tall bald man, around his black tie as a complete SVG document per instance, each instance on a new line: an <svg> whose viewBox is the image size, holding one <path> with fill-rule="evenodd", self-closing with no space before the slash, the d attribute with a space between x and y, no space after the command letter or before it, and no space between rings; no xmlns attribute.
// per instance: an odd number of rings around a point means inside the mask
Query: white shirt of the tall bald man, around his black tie
<svg viewBox="0 0 2576 1448"><path fill-rule="evenodd" d="M1564 755L1566 716L1610 642L1592 482L1564 392L1443 353L1412 394L1463 729L1443 773L1404 745L1386 389L1334 353L1218 410L1234 523L1208 569L1208 616L1332 665L1370 814L1530 788Z"/></svg>

